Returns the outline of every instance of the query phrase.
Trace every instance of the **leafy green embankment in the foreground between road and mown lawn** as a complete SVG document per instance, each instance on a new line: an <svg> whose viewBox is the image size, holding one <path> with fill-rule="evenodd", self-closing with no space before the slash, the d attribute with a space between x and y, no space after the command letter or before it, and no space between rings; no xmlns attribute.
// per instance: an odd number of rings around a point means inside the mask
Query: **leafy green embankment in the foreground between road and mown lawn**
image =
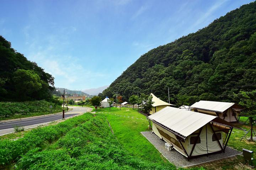
<svg viewBox="0 0 256 170"><path fill-rule="evenodd" d="M110 131L106 114L85 113L34 129L16 141L1 141L0 164L6 169L176 169L163 158L149 159L152 152L137 156L119 142Z"/></svg>

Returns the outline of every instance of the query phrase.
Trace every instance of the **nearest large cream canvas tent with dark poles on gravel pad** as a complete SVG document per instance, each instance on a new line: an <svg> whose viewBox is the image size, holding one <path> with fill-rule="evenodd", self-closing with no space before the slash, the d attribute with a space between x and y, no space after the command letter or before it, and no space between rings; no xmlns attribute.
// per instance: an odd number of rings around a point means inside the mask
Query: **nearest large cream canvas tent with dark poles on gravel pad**
<svg viewBox="0 0 256 170"><path fill-rule="evenodd" d="M233 129L216 116L168 106L147 118L154 134L188 159L224 152Z"/></svg>

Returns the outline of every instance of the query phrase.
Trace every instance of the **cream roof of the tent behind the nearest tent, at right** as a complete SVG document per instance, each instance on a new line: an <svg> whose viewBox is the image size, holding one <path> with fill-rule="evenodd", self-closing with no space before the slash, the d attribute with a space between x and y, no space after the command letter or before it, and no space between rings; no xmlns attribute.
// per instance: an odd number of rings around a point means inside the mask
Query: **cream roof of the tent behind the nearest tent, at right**
<svg viewBox="0 0 256 170"><path fill-rule="evenodd" d="M208 111L224 112L226 109L230 108L234 104L235 103L201 100L199 102L192 104L190 107L204 109L204 110L208 110Z"/></svg>

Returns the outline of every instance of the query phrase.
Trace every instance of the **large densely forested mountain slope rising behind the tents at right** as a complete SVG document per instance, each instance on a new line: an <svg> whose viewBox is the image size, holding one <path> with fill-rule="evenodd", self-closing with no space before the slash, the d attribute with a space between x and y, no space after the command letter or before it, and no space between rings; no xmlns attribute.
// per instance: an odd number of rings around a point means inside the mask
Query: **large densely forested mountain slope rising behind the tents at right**
<svg viewBox="0 0 256 170"><path fill-rule="evenodd" d="M232 101L233 92L256 87L256 2L215 19L209 26L142 55L106 90L127 101L150 94L173 104Z"/></svg>

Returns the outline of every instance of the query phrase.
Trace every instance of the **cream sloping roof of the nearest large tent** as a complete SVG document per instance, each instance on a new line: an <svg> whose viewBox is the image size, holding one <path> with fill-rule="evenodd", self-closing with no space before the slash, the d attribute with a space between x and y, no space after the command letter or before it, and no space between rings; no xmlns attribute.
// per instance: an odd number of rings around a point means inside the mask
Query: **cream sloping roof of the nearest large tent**
<svg viewBox="0 0 256 170"><path fill-rule="evenodd" d="M155 121L161 124L166 129L180 134L179 136L186 138L217 117L167 106L150 115L148 118L153 122Z"/></svg>

